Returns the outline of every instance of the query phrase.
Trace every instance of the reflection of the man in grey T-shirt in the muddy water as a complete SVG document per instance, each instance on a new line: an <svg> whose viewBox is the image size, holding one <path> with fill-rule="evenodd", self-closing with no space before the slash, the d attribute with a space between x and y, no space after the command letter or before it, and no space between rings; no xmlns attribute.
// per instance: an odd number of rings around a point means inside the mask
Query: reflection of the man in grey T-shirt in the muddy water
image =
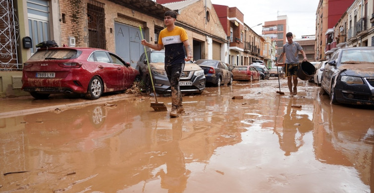
<svg viewBox="0 0 374 193"><path fill-rule="evenodd" d="M313 130L312 121L308 115L298 114L296 105L297 98L291 98L286 107L286 114L283 116L283 130L274 132L278 136L280 149L284 151L284 155L289 156L292 152L296 152L304 144L303 137L305 133Z"/></svg>

